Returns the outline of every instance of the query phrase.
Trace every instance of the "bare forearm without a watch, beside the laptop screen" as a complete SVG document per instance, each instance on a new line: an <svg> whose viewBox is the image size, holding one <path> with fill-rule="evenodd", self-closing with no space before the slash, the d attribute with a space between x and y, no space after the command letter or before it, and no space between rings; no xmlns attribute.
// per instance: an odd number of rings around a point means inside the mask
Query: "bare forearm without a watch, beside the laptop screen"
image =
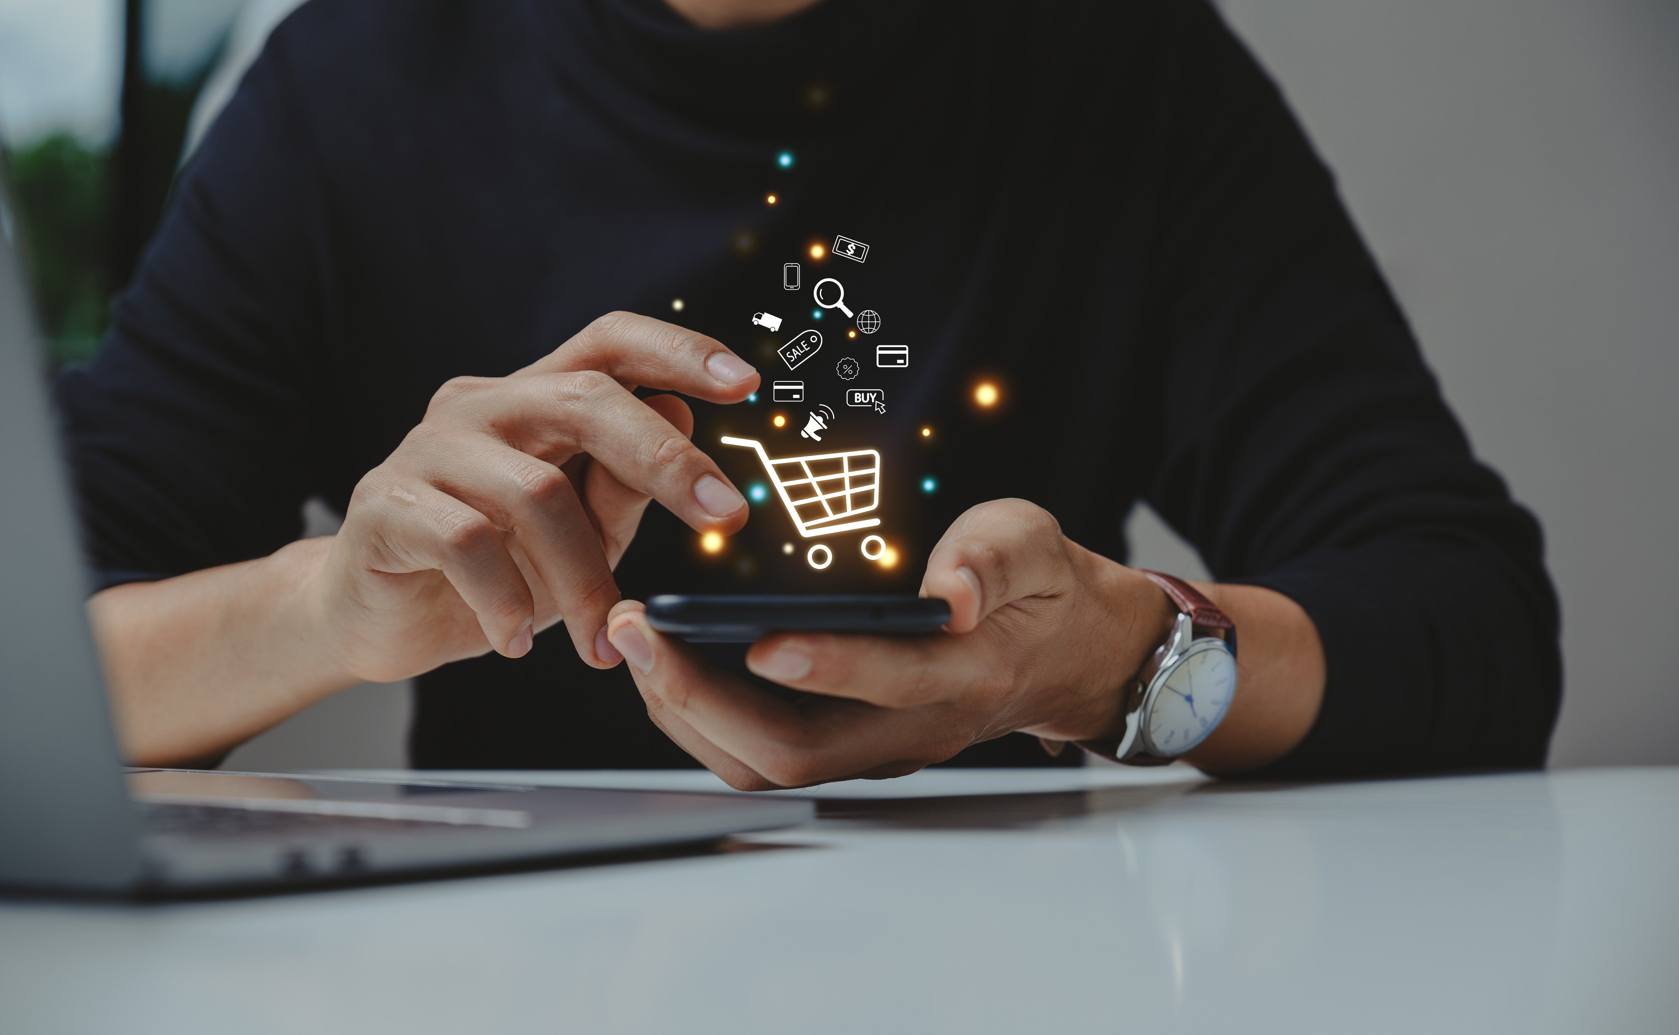
<svg viewBox="0 0 1679 1035"><path fill-rule="evenodd" d="M223 752L354 684L311 601L331 537L89 601L124 757Z"/></svg>

